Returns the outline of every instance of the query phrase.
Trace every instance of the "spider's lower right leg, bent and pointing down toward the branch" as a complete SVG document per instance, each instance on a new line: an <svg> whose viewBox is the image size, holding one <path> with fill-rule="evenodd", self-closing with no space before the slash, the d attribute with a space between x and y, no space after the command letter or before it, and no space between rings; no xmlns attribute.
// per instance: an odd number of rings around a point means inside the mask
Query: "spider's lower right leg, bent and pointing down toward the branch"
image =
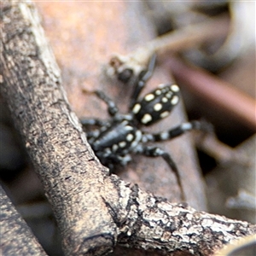
<svg viewBox="0 0 256 256"><path fill-rule="evenodd" d="M184 195L184 191L183 191L183 185L181 182L181 177L179 175L179 172L177 170L177 166L175 164L175 162L172 160L172 157L170 154L168 154L166 151L164 151L161 148L158 147L150 147L150 146L145 146L145 147L137 147L136 150L134 150L135 153L139 153L139 154L143 154L146 156L150 156L150 157L157 157L157 156L161 156L167 163L168 166L171 167L172 172L174 172L176 179L177 179L177 184L180 188L181 191L181 197L182 200L185 201L185 195Z"/></svg>

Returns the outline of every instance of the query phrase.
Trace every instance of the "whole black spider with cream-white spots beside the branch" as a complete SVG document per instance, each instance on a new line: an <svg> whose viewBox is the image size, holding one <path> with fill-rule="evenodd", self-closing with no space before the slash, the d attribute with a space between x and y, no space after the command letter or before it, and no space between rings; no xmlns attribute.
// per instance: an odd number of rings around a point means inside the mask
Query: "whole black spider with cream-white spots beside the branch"
<svg viewBox="0 0 256 256"><path fill-rule="evenodd" d="M151 77L154 70L155 56L152 56L148 69L142 71L135 83L131 95L131 104L128 113L121 114L119 109L102 90L91 93L99 97L108 106L109 120L80 119L85 128L97 126L96 130L88 131L87 138L91 148L103 166L113 170L116 165L126 166L131 161L131 154L143 154L149 157L162 157L171 167L177 178L184 199L183 186L175 162L169 153L147 143L171 140L193 129L208 130L208 124L202 121L191 121L178 125L160 133L148 133L141 130L143 125L153 125L166 118L179 102L180 93L177 84L160 84L142 98L139 98L144 85Z"/></svg>

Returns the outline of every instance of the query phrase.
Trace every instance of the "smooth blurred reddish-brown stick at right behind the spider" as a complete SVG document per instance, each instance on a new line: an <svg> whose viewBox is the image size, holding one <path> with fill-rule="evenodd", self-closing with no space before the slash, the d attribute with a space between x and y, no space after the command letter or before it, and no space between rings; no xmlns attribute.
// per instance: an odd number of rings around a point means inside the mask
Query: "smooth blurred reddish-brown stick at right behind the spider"
<svg viewBox="0 0 256 256"><path fill-rule="evenodd" d="M198 67L189 67L177 58L170 58L165 65L172 70L176 79L186 84L189 90L201 98L207 98L212 105L230 113L242 124L256 131L256 101Z"/></svg>

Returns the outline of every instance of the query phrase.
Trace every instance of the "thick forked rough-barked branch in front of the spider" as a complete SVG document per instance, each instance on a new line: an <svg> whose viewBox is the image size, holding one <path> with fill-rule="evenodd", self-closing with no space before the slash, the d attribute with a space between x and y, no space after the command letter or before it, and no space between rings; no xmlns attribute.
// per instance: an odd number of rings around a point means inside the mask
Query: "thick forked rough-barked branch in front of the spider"
<svg viewBox="0 0 256 256"><path fill-rule="evenodd" d="M209 255L256 232L247 222L171 204L109 176L69 107L34 5L6 1L1 19L1 93L44 184L66 255L106 255L116 245Z"/></svg>

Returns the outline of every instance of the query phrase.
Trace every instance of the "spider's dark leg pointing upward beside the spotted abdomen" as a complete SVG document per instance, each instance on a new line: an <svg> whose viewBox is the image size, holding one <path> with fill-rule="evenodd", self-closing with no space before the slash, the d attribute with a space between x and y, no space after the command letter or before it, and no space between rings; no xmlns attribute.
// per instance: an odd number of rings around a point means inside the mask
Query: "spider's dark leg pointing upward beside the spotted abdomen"
<svg viewBox="0 0 256 256"><path fill-rule="evenodd" d="M143 70L137 78L137 82L135 84L135 88L133 90L133 93L131 95L131 103L130 103L130 109L133 107L134 103L137 102L137 98L140 95L141 91L144 88L144 85L150 79L154 72L154 65L156 60L156 54L152 55L149 62L148 62L148 68L147 70Z"/></svg>

